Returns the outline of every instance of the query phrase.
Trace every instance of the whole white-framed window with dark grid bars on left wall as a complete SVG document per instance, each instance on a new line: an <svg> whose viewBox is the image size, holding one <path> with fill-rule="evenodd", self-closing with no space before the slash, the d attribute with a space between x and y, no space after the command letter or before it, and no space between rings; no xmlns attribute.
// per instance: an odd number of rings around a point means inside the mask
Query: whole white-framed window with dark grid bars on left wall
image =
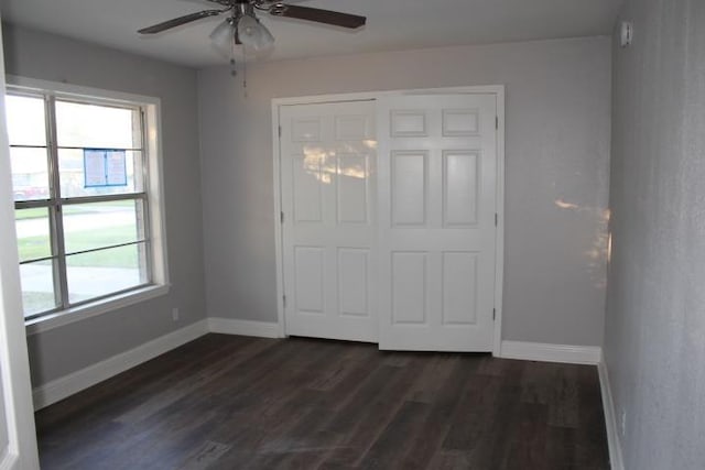
<svg viewBox="0 0 705 470"><path fill-rule="evenodd" d="M165 284L156 105L104 95L8 87L29 321Z"/></svg>

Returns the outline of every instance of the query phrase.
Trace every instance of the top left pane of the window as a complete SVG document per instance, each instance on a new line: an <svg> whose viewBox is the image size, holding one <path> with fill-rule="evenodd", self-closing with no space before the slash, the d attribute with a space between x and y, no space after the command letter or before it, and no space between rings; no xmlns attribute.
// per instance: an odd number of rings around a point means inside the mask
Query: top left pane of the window
<svg viewBox="0 0 705 470"><path fill-rule="evenodd" d="M6 97L10 145L46 145L44 99Z"/></svg>

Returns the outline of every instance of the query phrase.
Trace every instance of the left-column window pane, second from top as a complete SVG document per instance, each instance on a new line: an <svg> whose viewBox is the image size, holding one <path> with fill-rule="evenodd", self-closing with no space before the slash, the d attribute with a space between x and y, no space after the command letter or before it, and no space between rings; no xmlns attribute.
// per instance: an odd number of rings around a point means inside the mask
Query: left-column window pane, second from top
<svg viewBox="0 0 705 470"><path fill-rule="evenodd" d="M46 149L10 149L14 200L48 198Z"/></svg>

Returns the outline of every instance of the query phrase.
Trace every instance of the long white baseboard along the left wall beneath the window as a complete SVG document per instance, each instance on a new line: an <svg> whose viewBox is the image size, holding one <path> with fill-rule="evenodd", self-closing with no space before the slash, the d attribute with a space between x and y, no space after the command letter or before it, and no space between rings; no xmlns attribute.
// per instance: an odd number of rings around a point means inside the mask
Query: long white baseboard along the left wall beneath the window
<svg viewBox="0 0 705 470"><path fill-rule="evenodd" d="M105 361L97 362L79 371L63 378L47 382L32 391L34 409L41 409L67 396L88 389L104 380L110 379L150 359L178 348L208 332L206 320L164 335L134 349L113 356Z"/></svg>

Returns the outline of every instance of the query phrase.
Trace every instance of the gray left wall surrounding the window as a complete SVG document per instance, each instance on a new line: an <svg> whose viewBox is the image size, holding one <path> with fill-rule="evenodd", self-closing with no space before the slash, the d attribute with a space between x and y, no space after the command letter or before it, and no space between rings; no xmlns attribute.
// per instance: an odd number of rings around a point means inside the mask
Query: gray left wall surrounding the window
<svg viewBox="0 0 705 470"><path fill-rule="evenodd" d="M6 25L7 73L159 97L169 295L28 338L33 384L45 383L205 316L196 72ZM181 320L172 321L178 307Z"/></svg>

